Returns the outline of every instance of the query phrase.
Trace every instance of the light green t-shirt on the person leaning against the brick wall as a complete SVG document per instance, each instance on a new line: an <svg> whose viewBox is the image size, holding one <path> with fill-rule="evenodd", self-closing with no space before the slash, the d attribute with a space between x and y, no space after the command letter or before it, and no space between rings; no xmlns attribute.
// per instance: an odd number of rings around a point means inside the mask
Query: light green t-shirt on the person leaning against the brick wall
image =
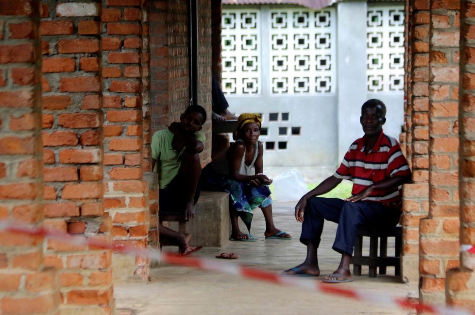
<svg viewBox="0 0 475 315"><path fill-rule="evenodd" d="M206 137L204 133L198 131L195 133L195 139L204 143ZM173 133L168 129L155 132L152 136L152 158L157 162L153 172L158 173L158 185L160 189L166 188L171 180L178 174L181 165L181 156L185 148L180 152L174 150L171 146Z"/></svg>

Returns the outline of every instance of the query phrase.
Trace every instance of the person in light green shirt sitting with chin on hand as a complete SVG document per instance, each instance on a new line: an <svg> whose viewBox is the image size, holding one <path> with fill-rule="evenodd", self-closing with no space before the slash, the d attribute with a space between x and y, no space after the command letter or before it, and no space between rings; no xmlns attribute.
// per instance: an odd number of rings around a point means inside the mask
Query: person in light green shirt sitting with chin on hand
<svg viewBox="0 0 475 315"><path fill-rule="evenodd" d="M180 122L152 136L152 171L158 173L160 214L182 214L189 220L195 216L194 205L200 191L201 175L199 153L204 149L205 136L200 130L206 121L202 106L191 105L180 116ZM194 248L188 245L190 236L158 225L160 237L170 239L187 256Z"/></svg>

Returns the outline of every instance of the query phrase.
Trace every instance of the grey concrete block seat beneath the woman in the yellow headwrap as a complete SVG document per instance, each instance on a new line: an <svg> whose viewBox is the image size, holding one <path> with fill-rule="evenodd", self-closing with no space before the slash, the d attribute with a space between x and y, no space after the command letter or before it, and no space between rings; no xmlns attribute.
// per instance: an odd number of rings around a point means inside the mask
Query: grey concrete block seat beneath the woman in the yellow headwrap
<svg viewBox="0 0 475 315"><path fill-rule="evenodd" d="M169 222L168 226L178 230L177 222ZM227 192L201 191L200 198L195 205L195 217L186 222L186 232L191 234L190 246L193 247L227 245L231 235L229 194Z"/></svg>

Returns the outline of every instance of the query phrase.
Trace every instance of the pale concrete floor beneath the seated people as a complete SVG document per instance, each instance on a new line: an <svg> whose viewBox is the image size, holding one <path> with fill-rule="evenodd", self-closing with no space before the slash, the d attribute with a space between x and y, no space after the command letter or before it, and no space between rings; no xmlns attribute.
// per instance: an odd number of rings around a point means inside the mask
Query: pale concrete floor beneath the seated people
<svg viewBox="0 0 475 315"><path fill-rule="evenodd" d="M222 248L206 247L193 254L213 259L223 264L243 264L280 273L304 260L305 247L300 244L300 223L295 221L296 202L275 202L273 205L276 227L292 234L292 240L265 240L265 223L260 210L254 212L251 232L257 242L230 242ZM243 229L245 230L245 229ZM323 230L319 250L322 276L332 273L340 255L331 249L336 224L328 222ZM367 246L366 246L367 247ZM393 247L393 244L389 244ZM176 251L176 247L166 248ZM393 253L389 249L389 253ZM393 249L392 249L393 250ZM235 252L237 260L218 260L221 252ZM184 258L186 259L186 258ZM349 288L358 292L387 297L417 297L417 283L402 283L388 275L369 278L368 269L363 275L345 284L326 284ZM321 281L302 278L303 281ZM146 314L414 314L413 310L394 309L387 304L356 301L350 298L317 293L291 286L278 286L221 273L204 272L188 267L160 265L150 273L150 282L130 280L114 286L114 296L119 315Z"/></svg>

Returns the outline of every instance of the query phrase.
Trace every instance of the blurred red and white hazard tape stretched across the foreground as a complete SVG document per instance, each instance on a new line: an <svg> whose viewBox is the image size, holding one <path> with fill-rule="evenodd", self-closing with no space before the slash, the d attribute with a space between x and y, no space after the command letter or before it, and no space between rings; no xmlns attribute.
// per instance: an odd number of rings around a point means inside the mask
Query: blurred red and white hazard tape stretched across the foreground
<svg viewBox="0 0 475 315"><path fill-rule="evenodd" d="M440 307L423 303L412 302L409 298L393 298L386 295L364 292L363 290L353 290L341 285L325 284L317 281L305 281L298 278L282 277L279 274L264 271L258 268L242 266L236 264L226 264L216 260L210 260L202 257L187 257L172 254L167 251L160 252L153 249L140 249L134 246L114 245L108 242L88 239L87 237L75 237L66 233L14 223L12 221L1 221L0 230L12 233L28 234L31 236L54 238L62 242L73 245L88 245L95 248L110 249L115 252L136 255L150 260L165 262L174 265L198 268L201 270L221 272L243 278L260 280L279 285L300 287L307 290L336 295L340 297L349 297L358 301L366 301L378 304L388 305L391 308L414 309L418 314L433 313L440 315L474 315L470 311L455 309L450 306ZM474 246L472 246L474 248ZM475 248L473 249L475 252Z"/></svg>

